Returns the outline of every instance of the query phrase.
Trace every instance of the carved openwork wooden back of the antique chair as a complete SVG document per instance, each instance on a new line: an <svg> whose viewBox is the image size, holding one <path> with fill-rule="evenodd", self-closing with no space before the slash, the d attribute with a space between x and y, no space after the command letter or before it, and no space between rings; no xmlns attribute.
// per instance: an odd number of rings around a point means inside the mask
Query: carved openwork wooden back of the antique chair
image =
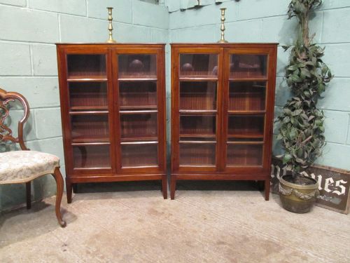
<svg viewBox="0 0 350 263"><path fill-rule="evenodd" d="M18 121L18 137L13 137L12 130L5 123L11 109L9 102L15 102L15 100L18 100L22 104L24 111L22 119ZM22 150L29 150L23 140L23 126L28 117L29 104L26 98L20 95L20 93L6 92L6 90L0 88L0 141L19 143Z"/></svg>

